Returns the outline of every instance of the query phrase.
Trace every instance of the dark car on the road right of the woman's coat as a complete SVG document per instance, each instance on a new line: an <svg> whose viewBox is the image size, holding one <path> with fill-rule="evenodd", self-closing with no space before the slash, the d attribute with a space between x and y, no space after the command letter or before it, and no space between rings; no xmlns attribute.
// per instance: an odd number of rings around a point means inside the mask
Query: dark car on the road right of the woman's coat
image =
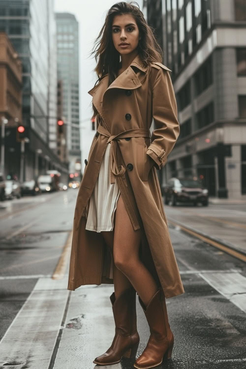
<svg viewBox="0 0 246 369"><path fill-rule="evenodd" d="M173 206L177 205L178 202L187 202L193 205L201 203L203 206L208 206L208 189L204 188L198 180L171 178L164 186L164 202L168 205L170 201Z"/></svg>

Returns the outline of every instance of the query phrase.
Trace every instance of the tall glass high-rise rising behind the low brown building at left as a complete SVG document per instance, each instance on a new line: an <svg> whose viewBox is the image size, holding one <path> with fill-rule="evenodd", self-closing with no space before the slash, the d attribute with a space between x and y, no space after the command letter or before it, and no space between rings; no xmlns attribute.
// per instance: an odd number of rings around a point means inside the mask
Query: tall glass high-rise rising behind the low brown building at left
<svg viewBox="0 0 246 369"><path fill-rule="evenodd" d="M56 154L57 62L54 0L0 0L0 31L7 33L22 66L25 179L48 169L67 176ZM38 168L36 164L38 163Z"/></svg>

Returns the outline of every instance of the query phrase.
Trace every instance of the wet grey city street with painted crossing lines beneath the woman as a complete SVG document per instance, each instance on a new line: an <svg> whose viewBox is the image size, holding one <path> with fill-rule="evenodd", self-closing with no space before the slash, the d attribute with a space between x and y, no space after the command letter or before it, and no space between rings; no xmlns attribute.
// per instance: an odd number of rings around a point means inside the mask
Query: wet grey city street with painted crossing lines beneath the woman
<svg viewBox="0 0 246 369"><path fill-rule="evenodd" d="M0 202L0 369L95 368L112 342L113 285L66 289L77 191ZM175 346L160 368L246 367L245 208L165 206L185 293L167 299ZM139 356L149 329L138 300L137 318Z"/></svg>

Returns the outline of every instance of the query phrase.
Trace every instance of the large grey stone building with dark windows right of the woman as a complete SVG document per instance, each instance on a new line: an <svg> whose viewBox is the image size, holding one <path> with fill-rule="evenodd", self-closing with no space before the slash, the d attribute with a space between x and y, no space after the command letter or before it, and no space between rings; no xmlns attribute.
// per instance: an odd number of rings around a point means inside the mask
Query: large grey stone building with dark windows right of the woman
<svg viewBox="0 0 246 369"><path fill-rule="evenodd" d="M172 70L181 125L163 182L199 178L211 196L240 198L246 194L246 1L156 0L145 7L154 8L148 22Z"/></svg>

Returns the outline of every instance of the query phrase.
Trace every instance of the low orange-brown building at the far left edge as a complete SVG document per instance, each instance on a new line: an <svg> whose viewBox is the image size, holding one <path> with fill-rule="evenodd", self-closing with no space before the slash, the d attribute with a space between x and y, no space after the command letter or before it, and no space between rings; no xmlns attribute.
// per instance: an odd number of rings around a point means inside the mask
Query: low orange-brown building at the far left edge
<svg viewBox="0 0 246 369"><path fill-rule="evenodd" d="M6 33L0 32L0 125L4 124L4 153L0 172L15 175L20 167L16 129L22 124L22 65ZM2 127L1 127L2 128ZM2 129L0 129L2 133ZM2 153L0 153L2 154Z"/></svg>

